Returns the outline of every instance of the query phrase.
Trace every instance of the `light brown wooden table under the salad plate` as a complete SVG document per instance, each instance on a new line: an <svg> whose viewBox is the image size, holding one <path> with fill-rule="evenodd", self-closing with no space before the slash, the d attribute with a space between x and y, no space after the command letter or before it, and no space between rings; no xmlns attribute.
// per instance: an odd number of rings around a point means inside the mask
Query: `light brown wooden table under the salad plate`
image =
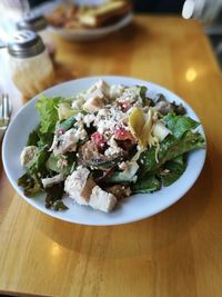
<svg viewBox="0 0 222 297"><path fill-rule="evenodd" d="M0 291L20 296L222 296L222 79L201 24L137 17L90 43L57 39L58 61L79 77L123 75L163 85L198 112L208 158L178 204L143 221L85 227L21 199L0 165Z"/></svg>

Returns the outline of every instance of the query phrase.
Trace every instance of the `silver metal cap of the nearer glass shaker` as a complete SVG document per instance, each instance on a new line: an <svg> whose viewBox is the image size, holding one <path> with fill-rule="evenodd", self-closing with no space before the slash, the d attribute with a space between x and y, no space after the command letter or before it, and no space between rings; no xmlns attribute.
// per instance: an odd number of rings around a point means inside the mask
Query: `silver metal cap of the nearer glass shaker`
<svg viewBox="0 0 222 297"><path fill-rule="evenodd" d="M29 58L40 55L46 47L42 39L33 31L17 31L8 43L8 52L17 58Z"/></svg>

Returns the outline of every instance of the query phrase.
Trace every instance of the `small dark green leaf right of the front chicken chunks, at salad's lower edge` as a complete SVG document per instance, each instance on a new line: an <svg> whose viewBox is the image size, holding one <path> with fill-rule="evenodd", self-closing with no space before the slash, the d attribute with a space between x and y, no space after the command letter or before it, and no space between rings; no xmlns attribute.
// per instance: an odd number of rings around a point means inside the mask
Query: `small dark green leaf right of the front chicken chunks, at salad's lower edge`
<svg viewBox="0 0 222 297"><path fill-rule="evenodd" d="M139 178L131 187L133 194L152 192L159 190L160 188L161 182L154 175L145 175Z"/></svg>

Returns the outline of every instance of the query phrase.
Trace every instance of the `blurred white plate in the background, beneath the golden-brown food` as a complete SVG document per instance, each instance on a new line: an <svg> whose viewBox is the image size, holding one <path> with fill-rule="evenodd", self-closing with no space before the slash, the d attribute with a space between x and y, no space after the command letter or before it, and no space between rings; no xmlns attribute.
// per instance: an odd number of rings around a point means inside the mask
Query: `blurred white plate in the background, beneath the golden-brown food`
<svg viewBox="0 0 222 297"><path fill-rule="evenodd" d="M59 36L62 36L65 39L73 41L91 41L104 36L108 36L112 32L115 32L123 27L128 26L132 21L133 14L128 13L125 17L120 19L118 22L95 29L63 29L49 27L50 30Z"/></svg>

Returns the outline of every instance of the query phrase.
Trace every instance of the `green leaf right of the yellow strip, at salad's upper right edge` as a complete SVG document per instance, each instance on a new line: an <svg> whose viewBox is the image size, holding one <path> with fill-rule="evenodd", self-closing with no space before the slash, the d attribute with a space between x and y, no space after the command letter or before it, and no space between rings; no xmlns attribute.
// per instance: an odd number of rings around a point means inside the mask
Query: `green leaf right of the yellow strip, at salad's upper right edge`
<svg viewBox="0 0 222 297"><path fill-rule="evenodd" d="M163 120L175 138L181 138L184 132L193 130L200 125L186 116L176 116L175 113L169 113Z"/></svg>

